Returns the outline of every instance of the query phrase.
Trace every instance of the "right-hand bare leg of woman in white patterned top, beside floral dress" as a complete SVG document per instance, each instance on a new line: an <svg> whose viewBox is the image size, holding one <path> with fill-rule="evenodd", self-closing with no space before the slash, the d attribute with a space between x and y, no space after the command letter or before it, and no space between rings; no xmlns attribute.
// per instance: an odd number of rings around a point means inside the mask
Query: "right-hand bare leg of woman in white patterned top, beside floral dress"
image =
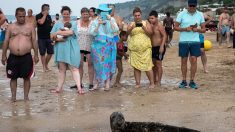
<svg viewBox="0 0 235 132"><path fill-rule="evenodd" d="M93 87L94 67L93 67L93 63L92 63L92 59L91 59L91 54L87 54L86 57L87 57L87 60L88 60L88 75L89 75L89 82L90 82L89 87L91 87L91 86Z"/></svg>

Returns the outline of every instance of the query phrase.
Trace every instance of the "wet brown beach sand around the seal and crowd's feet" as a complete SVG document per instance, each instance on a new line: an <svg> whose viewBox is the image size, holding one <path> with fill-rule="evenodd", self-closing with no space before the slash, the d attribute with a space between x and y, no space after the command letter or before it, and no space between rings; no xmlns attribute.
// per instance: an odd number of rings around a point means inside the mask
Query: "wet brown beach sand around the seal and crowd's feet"
<svg viewBox="0 0 235 132"><path fill-rule="evenodd" d="M173 44L177 43L177 37L176 34ZM134 88L133 69L124 61L122 88L78 95L75 90L69 89L74 81L67 71L64 92L53 94L49 89L56 86L57 68L51 62L52 70L43 73L38 63L36 76L32 79L30 101L23 101L23 81L19 79L17 102L11 103L9 80L6 79L5 67L0 65L0 131L110 132L109 116L114 111L121 111L127 121L160 122L203 132L233 132L234 50L225 46L219 48L215 33L206 33L206 39L210 39L214 47L206 52L208 74L203 72L201 60L198 59L198 90L177 88L181 71L176 45L167 49L162 86L151 91L147 89L145 73L142 73L142 87ZM87 72L83 83L88 83Z"/></svg>

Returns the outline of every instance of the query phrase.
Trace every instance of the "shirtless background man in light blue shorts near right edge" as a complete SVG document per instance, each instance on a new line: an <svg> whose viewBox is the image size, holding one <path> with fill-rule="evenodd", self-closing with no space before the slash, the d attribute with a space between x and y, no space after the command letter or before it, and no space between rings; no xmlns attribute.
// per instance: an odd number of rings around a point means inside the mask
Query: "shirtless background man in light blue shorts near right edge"
<svg viewBox="0 0 235 132"><path fill-rule="evenodd" d="M220 15L219 17L219 35L220 35L220 39L219 39L219 45L222 44L222 38L223 35L226 34L227 40L227 46L228 48L231 48L231 45L229 45L229 40L230 40L230 25L229 25L229 19L230 16L228 14L228 9L227 7L224 7L223 9L223 13Z"/></svg>

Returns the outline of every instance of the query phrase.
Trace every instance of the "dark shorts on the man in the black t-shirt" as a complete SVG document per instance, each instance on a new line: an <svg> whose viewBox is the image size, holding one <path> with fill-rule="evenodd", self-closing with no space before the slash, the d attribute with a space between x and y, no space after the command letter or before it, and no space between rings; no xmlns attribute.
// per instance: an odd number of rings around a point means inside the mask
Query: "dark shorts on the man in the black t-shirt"
<svg viewBox="0 0 235 132"><path fill-rule="evenodd" d="M54 46L51 39L38 39L38 48L40 55L54 54Z"/></svg>

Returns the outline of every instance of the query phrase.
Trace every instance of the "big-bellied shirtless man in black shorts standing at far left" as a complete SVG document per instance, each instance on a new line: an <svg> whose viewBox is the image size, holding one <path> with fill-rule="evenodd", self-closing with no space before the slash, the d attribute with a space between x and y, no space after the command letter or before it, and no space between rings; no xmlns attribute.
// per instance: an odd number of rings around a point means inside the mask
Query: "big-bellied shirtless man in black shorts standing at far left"
<svg viewBox="0 0 235 132"><path fill-rule="evenodd" d="M25 22L25 9L16 9L16 22L10 24L2 47L2 64L6 66L7 77L11 79L11 100L16 101L17 79L24 79L24 100L29 100L30 76L33 73L31 49L34 50L34 62L38 62L38 46L35 29ZM7 49L10 55L7 58Z"/></svg>

